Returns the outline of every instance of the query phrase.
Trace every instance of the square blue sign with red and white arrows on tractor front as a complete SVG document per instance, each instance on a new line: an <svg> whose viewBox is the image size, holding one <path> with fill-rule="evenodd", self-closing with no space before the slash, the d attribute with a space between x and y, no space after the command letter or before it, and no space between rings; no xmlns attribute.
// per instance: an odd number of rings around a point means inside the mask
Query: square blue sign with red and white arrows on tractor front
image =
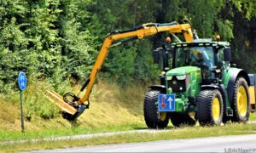
<svg viewBox="0 0 256 153"><path fill-rule="evenodd" d="M175 111L175 95L159 94L158 111Z"/></svg>

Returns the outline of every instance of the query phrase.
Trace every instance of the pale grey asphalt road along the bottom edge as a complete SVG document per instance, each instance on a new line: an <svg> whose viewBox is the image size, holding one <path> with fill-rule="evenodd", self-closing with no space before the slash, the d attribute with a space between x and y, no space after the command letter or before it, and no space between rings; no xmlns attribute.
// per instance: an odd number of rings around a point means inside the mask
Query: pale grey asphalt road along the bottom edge
<svg viewBox="0 0 256 153"><path fill-rule="evenodd" d="M34 152L255 152L256 134L109 144Z"/></svg>

